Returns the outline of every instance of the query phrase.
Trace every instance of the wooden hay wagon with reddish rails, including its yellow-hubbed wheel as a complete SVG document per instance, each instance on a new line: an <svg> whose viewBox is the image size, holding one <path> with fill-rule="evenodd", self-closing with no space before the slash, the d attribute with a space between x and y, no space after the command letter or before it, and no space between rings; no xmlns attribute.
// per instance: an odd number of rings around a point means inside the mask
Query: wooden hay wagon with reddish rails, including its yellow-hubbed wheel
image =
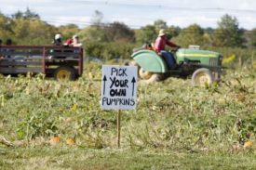
<svg viewBox="0 0 256 170"><path fill-rule="evenodd" d="M0 46L0 73L44 73L56 80L75 80L83 73L83 48Z"/></svg>

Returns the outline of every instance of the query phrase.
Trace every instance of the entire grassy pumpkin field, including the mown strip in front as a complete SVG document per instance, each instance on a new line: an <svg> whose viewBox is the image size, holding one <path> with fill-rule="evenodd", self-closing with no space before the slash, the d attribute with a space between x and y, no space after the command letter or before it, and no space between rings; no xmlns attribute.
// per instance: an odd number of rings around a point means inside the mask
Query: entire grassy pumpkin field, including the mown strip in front
<svg viewBox="0 0 256 170"><path fill-rule="evenodd" d="M137 110L101 111L101 66L75 82L0 77L0 169L255 169L256 70L219 85L139 83Z"/></svg>

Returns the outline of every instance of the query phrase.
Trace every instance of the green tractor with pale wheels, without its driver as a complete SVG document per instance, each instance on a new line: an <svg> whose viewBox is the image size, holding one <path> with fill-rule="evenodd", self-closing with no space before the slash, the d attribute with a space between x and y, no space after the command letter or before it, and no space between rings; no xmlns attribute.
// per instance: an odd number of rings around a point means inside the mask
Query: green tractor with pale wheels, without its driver
<svg viewBox="0 0 256 170"><path fill-rule="evenodd" d="M169 76L188 77L192 75L193 85L211 85L219 81L222 74L222 55L217 52L200 50L198 46L180 48L172 52L176 67L168 69L165 59L155 51L141 49L134 52L131 65L138 66L139 78L145 83L165 80Z"/></svg>

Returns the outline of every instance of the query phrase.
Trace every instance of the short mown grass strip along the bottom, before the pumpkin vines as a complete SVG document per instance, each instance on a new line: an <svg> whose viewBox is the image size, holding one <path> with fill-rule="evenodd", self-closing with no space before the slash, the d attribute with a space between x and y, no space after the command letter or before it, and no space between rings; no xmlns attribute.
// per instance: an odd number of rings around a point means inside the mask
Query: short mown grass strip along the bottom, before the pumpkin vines
<svg viewBox="0 0 256 170"><path fill-rule="evenodd" d="M1 149L2 169L255 169L249 152L88 150L66 147Z"/></svg>

